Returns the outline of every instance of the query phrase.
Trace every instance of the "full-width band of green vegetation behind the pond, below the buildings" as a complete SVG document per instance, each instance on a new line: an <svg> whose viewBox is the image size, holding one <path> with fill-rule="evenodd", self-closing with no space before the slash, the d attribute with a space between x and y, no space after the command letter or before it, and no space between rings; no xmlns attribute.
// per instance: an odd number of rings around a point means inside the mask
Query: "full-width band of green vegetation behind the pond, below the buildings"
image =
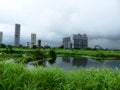
<svg viewBox="0 0 120 90"><path fill-rule="evenodd" d="M90 57L96 60L104 59L120 59L119 50L75 50L75 49L30 49L30 48L13 48L11 46L1 48L0 60L15 59L16 62L27 63L36 60L45 60L46 58L56 59L57 55L79 55L84 57ZM24 56L25 55L25 56ZM49 60L51 60L49 59ZM52 63L52 62L51 62Z"/></svg>

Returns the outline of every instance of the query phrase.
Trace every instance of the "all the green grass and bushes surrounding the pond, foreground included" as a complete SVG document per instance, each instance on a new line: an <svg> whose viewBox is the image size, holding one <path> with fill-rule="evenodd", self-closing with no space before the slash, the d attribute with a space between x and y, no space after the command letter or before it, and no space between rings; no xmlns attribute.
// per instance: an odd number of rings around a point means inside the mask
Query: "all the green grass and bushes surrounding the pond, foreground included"
<svg viewBox="0 0 120 90"><path fill-rule="evenodd" d="M96 59L120 59L115 50L66 50L44 48L0 49L0 90L120 90L120 71L112 69L82 69L65 72L56 67L29 69L23 63L50 58L56 55L81 55ZM14 63L4 60L14 59ZM16 63L17 62L17 63Z"/></svg>

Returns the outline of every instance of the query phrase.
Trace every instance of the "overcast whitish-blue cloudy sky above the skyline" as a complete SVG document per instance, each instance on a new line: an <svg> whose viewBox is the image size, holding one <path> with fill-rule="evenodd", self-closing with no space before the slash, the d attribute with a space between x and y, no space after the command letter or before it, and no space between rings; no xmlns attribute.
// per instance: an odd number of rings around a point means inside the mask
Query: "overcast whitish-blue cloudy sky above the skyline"
<svg viewBox="0 0 120 90"><path fill-rule="evenodd" d="M3 42L13 43L16 23L22 43L30 41L31 33L54 45L86 33L89 47L120 48L120 0L0 0Z"/></svg>

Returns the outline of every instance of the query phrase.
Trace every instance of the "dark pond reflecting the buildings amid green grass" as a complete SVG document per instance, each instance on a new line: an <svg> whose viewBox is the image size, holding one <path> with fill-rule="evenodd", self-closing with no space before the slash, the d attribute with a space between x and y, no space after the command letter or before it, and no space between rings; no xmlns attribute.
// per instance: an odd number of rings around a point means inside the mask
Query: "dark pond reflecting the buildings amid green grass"
<svg viewBox="0 0 120 90"><path fill-rule="evenodd" d="M30 64L30 63L29 63ZM28 64L28 65L29 65ZM65 70L81 68L112 68L120 69L120 60L104 60L102 62L86 57L63 57L59 56L55 60L41 61L38 63L45 67L57 66ZM30 65L32 66L32 64Z"/></svg>

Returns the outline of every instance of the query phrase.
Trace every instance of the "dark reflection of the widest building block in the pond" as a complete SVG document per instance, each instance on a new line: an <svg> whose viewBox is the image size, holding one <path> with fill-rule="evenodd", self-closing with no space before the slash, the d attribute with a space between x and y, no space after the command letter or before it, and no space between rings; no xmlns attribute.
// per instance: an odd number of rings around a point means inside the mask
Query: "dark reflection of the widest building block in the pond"
<svg viewBox="0 0 120 90"><path fill-rule="evenodd" d="M77 67L85 67L87 65L87 58L81 57L81 58L73 58L72 65Z"/></svg>

